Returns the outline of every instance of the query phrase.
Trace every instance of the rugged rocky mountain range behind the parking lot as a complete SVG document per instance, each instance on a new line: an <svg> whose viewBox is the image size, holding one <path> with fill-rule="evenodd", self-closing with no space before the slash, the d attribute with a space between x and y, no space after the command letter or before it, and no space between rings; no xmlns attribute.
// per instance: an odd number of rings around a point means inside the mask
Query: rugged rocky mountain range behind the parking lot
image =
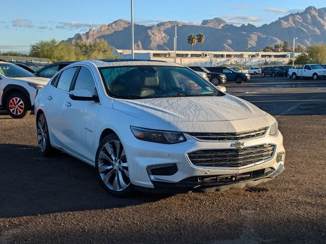
<svg viewBox="0 0 326 244"><path fill-rule="evenodd" d="M178 21L161 22L147 26L134 24L135 49L144 50L173 50L175 25L178 26L178 50L191 50L187 37L203 33L204 43L200 46L203 51L257 51L266 46L289 41L294 37L296 44L305 46L326 40L326 8L317 9L313 6L303 12L293 13L262 26L228 24L221 18L203 20L200 25L187 24ZM119 19L98 29L90 29L84 34L75 34L66 40L74 42L92 42L104 39L117 49L131 49L130 22ZM197 50L197 45L194 46Z"/></svg>

